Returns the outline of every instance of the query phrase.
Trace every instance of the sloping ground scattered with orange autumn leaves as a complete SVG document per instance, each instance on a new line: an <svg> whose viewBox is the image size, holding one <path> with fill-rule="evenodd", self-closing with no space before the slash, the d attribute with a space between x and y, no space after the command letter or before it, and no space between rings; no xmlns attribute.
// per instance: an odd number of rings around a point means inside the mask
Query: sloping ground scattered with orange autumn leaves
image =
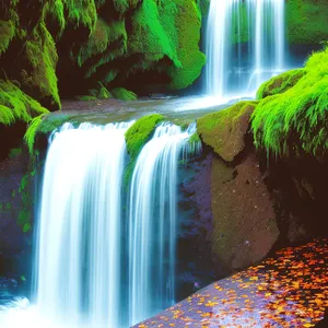
<svg viewBox="0 0 328 328"><path fill-rule="evenodd" d="M284 248L136 327L314 327L328 306L327 259L328 239Z"/></svg>

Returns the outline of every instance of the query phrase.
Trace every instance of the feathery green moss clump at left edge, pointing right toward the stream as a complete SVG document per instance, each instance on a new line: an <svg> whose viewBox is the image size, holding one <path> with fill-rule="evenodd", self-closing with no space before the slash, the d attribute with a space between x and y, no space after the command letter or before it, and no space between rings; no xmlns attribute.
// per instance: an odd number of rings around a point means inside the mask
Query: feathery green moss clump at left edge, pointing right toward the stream
<svg viewBox="0 0 328 328"><path fill-rule="evenodd" d="M0 124L30 122L33 117L46 113L49 112L15 84L0 80Z"/></svg>

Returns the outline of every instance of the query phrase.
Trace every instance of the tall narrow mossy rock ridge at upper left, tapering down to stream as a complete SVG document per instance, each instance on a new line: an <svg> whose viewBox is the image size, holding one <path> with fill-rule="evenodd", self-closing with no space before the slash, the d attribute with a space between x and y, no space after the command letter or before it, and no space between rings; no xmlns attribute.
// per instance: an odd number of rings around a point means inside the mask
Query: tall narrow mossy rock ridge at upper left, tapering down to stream
<svg viewBox="0 0 328 328"><path fill-rule="evenodd" d="M45 23L40 22L26 42L26 58L32 67L25 84L38 90L39 97L50 97L52 105L60 108L56 66L58 61L56 44Z"/></svg>

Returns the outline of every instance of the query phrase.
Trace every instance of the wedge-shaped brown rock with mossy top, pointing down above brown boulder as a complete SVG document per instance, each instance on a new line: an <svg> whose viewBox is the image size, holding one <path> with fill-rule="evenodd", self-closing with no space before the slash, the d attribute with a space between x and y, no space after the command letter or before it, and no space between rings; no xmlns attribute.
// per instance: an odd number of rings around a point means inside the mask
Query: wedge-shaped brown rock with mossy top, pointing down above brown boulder
<svg viewBox="0 0 328 328"><path fill-rule="evenodd" d="M256 106L257 102L241 102L198 119L201 140L224 161L232 162L244 150L249 118Z"/></svg>

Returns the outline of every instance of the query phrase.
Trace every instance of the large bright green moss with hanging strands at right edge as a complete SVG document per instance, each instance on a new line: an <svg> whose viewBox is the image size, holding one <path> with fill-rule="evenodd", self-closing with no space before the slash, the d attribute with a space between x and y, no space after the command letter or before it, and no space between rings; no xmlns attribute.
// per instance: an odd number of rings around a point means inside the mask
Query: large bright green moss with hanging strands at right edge
<svg viewBox="0 0 328 328"><path fill-rule="evenodd" d="M304 70L294 86L266 97L253 114L255 144L268 154L321 156L327 152L328 47L311 56Z"/></svg>

